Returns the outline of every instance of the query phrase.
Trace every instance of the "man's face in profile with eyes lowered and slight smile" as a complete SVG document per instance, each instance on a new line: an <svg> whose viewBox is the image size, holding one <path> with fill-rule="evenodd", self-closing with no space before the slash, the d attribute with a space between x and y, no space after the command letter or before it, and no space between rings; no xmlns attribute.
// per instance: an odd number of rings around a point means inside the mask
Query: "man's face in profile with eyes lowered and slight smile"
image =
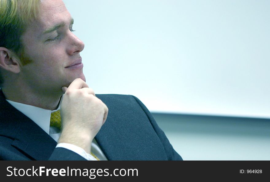
<svg viewBox="0 0 270 182"><path fill-rule="evenodd" d="M30 63L22 66L20 76L33 91L53 94L76 78L85 81L79 54L84 44L72 33L72 24L62 0L41 2L39 18L21 37L23 59Z"/></svg>

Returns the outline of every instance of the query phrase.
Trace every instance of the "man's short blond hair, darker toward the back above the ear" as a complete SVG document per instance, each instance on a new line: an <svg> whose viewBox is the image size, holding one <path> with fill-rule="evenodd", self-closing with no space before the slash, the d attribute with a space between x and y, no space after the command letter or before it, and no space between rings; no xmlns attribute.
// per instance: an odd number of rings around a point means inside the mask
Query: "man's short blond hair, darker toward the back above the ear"
<svg viewBox="0 0 270 182"><path fill-rule="evenodd" d="M20 38L37 18L40 0L0 0L0 47L17 55L23 50ZM0 75L0 84L3 82Z"/></svg>

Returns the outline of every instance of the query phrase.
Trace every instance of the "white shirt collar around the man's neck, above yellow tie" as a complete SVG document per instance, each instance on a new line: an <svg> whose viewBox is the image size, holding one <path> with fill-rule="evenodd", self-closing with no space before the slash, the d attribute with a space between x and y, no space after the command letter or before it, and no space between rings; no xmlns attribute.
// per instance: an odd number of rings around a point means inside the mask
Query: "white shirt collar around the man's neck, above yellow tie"
<svg viewBox="0 0 270 182"><path fill-rule="evenodd" d="M18 103L7 99L6 101L9 102L17 110L21 111L25 116L30 118L33 122L35 122L47 134L49 134L51 113L60 110L62 97L60 98L60 104L56 110L42 109L40 107Z"/></svg>

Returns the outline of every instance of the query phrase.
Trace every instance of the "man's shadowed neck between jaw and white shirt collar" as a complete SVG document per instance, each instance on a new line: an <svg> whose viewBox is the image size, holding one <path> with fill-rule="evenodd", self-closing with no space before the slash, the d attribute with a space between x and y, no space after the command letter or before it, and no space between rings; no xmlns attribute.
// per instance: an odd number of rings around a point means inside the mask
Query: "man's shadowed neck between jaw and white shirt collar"
<svg viewBox="0 0 270 182"><path fill-rule="evenodd" d="M4 87L1 88L6 99L28 104L31 106L40 107L47 110L55 110L58 107L62 92L54 92L48 94L48 92L37 92L31 90L25 90L16 87Z"/></svg>

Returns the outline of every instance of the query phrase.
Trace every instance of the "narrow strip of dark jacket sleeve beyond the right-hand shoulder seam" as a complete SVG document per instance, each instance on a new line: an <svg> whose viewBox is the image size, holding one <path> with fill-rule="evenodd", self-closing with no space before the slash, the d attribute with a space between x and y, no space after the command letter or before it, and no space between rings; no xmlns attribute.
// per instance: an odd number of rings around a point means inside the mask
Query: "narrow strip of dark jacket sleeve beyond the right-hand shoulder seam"
<svg viewBox="0 0 270 182"><path fill-rule="evenodd" d="M133 96L133 95L132 95ZM147 109L147 107L135 96L133 96L134 99L137 101L137 103L141 106L141 108L144 110L145 114L147 115L149 121L151 122L153 129L156 131L156 134L160 138L160 141L163 144L163 147L166 151L167 157L169 161L182 161L182 157L173 149L171 143L169 142L168 138L164 134L164 132L160 129L160 127L157 125L154 117L150 113L150 111Z"/></svg>

